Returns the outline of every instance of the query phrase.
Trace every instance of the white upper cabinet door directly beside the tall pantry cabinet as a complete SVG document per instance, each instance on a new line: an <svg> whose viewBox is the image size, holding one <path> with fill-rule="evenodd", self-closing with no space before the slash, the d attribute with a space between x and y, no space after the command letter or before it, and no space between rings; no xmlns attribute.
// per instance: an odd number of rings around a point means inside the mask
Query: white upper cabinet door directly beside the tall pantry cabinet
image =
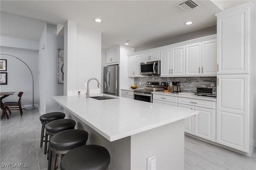
<svg viewBox="0 0 256 170"><path fill-rule="evenodd" d="M202 75L217 75L217 40L202 42Z"/></svg>

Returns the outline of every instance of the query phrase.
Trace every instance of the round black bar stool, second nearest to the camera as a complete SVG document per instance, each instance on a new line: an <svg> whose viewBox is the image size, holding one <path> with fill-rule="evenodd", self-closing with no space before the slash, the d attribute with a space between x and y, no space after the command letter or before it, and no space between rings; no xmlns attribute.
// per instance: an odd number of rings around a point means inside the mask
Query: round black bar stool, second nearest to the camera
<svg viewBox="0 0 256 170"><path fill-rule="evenodd" d="M51 170L55 169L57 154L59 156L58 170L60 170L60 162L62 156L70 151L70 149L74 149L86 144L87 139L88 132L80 129L61 131L54 135L50 140L50 146L52 149Z"/></svg>

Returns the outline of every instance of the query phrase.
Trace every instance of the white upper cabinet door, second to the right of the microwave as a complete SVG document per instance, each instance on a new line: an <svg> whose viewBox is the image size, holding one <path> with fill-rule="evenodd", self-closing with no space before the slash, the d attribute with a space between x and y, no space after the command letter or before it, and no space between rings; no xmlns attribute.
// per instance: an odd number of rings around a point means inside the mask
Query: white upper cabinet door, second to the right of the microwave
<svg viewBox="0 0 256 170"><path fill-rule="evenodd" d="M185 45L172 48L172 76L185 76Z"/></svg>

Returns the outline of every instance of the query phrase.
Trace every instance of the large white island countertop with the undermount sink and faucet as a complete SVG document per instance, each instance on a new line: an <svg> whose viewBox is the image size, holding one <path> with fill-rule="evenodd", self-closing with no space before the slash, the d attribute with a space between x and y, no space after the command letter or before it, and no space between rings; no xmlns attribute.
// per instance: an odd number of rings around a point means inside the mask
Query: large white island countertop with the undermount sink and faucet
<svg viewBox="0 0 256 170"><path fill-rule="evenodd" d="M90 94L91 97L102 95ZM110 95L104 94L104 96ZM199 113L186 108L111 97L115 99L86 99L82 94L52 98L109 141L122 139Z"/></svg>

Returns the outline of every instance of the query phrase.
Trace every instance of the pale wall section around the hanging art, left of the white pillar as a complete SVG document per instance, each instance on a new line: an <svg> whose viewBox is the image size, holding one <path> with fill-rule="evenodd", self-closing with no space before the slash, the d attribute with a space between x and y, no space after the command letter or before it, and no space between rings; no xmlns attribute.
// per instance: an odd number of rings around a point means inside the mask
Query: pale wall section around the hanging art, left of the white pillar
<svg viewBox="0 0 256 170"><path fill-rule="evenodd" d="M58 49L64 48L64 37L56 35L57 26L46 24L39 42L39 95L41 114L59 111L52 96L63 95L63 84L58 84ZM42 47L45 49L42 49Z"/></svg>

